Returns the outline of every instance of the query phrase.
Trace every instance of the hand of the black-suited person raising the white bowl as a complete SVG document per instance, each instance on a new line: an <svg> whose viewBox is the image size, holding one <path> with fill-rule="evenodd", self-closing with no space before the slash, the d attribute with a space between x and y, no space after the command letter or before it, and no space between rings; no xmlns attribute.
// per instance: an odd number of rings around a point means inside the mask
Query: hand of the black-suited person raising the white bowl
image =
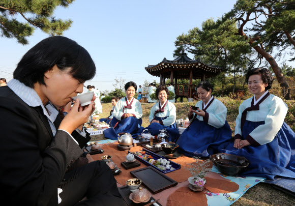
<svg viewBox="0 0 295 206"><path fill-rule="evenodd" d="M81 107L80 100L76 99L76 102L73 105L71 111L65 116L58 129L65 130L71 134L75 129L80 129L81 126L87 122L88 117L94 110L95 103L93 101L90 105Z"/></svg>

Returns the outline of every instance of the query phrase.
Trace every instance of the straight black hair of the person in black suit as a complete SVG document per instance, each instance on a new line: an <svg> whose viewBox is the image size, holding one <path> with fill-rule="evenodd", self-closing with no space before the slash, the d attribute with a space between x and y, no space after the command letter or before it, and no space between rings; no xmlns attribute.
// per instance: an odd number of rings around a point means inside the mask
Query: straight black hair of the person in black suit
<svg viewBox="0 0 295 206"><path fill-rule="evenodd" d="M42 40L23 55L13 78L31 88L37 82L46 85L44 73L54 65L62 71L70 69L72 77L81 82L92 79L96 73L86 49L67 37L55 36Z"/></svg>

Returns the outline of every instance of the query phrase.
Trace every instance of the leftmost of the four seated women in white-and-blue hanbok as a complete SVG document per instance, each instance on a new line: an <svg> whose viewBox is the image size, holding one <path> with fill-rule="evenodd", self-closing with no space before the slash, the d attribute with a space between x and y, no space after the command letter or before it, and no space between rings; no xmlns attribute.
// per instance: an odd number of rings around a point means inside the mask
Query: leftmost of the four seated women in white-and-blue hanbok
<svg viewBox="0 0 295 206"><path fill-rule="evenodd" d="M126 97L122 98L114 107L113 115L115 118L110 122L111 128L106 129L103 133L106 138L116 140L117 134L128 132L135 138L141 128L141 104L134 99L137 85L133 81L125 84Z"/></svg>

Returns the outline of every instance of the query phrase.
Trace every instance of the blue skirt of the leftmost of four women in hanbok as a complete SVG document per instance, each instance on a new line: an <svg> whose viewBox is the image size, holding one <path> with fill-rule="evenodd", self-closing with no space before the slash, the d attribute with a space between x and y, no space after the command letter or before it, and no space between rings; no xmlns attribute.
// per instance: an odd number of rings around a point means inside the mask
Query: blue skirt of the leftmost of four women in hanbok
<svg viewBox="0 0 295 206"><path fill-rule="evenodd" d="M133 138L136 138L137 135L140 134L139 130L142 129L141 124L141 118L137 119L133 116L129 116L120 121L113 117L112 121L110 122L111 127L104 130L103 134L105 138L112 140L117 140L117 134L123 132L129 133Z"/></svg>

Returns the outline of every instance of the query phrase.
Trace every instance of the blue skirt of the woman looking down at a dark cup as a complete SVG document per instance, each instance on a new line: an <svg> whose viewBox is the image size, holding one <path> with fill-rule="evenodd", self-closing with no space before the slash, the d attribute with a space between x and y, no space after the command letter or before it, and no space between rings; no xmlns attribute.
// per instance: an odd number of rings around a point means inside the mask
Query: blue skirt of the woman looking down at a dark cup
<svg viewBox="0 0 295 206"><path fill-rule="evenodd" d="M225 121L221 128L195 119L181 134L176 144L178 151L189 157L208 157L218 153L218 146L231 138L231 129Z"/></svg>

